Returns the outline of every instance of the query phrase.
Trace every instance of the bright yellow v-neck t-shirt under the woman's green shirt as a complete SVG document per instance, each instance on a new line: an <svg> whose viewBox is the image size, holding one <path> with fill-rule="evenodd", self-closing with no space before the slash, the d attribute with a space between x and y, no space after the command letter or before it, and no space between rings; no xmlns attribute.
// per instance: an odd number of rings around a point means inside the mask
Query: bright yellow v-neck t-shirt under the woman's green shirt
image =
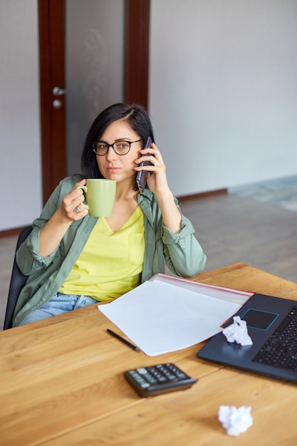
<svg viewBox="0 0 297 446"><path fill-rule="evenodd" d="M62 294L108 301L140 284L145 254L145 226L139 206L118 231L100 217L66 281Z"/></svg>

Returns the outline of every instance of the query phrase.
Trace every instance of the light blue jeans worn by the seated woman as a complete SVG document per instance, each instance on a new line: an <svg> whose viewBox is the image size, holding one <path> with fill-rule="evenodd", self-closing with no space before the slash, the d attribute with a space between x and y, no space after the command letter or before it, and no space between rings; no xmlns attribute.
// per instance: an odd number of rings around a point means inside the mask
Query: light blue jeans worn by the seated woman
<svg viewBox="0 0 297 446"><path fill-rule="evenodd" d="M74 296L56 293L46 304L41 305L36 310L28 313L27 316L19 323L19 326L26 325L26 323L41 321L41 319L51 318L51 316L57 316L58 314L67 313L68 311L76 310L77 308L83 308L83 306L89 306L98 304L90 296Z"/></svg>

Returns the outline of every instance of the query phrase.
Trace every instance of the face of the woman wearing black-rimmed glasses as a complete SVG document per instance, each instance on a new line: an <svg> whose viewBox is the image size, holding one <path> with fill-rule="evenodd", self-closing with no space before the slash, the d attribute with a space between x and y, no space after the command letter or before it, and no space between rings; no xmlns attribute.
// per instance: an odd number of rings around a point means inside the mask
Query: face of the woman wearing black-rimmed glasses
<svg viewBox="0 0 297 446"><path fill-rule="evenodd" d="M121 120L115 121L106 128L100 138L100 141L113 144L116 141L137 141L140 137L128 125ZM143 142L133 142L130 151L126 155L118 155L113 147L108 148L106 155L97 155L97 162L103 177L117 182L131 180L135 184L136 172L134 170L135 160L140 156L139 150L142 149Z"/></svg>

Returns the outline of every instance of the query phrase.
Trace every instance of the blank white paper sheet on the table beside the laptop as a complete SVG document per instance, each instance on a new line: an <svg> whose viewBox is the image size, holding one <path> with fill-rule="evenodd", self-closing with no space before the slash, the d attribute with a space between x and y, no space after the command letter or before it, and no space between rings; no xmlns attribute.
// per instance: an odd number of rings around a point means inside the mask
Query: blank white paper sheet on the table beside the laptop
<svg viewBox="0 0 297 446"><path fill-rule="evenodd" d="M99 311L148 356L187 348L222 331L240 308L162 281L147 281Z"/></svg>

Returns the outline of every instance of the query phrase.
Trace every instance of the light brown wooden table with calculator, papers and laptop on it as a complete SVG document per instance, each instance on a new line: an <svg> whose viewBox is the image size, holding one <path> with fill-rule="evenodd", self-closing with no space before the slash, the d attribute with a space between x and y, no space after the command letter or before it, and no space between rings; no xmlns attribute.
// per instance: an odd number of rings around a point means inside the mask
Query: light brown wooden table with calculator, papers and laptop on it
<svg viewBox="0 0 297 446"><path fill-rule="evenodd" d="M194 280L297 300L297 284L245 264ZM108 335L108 327L90 306L0 333L1 446L296 445L296 385L202 361L202 344L145 356ZM198 383L139 398L123 372L163 361ZM239 437L226 435L220 405L251 406L254 424Z"/></svg>

